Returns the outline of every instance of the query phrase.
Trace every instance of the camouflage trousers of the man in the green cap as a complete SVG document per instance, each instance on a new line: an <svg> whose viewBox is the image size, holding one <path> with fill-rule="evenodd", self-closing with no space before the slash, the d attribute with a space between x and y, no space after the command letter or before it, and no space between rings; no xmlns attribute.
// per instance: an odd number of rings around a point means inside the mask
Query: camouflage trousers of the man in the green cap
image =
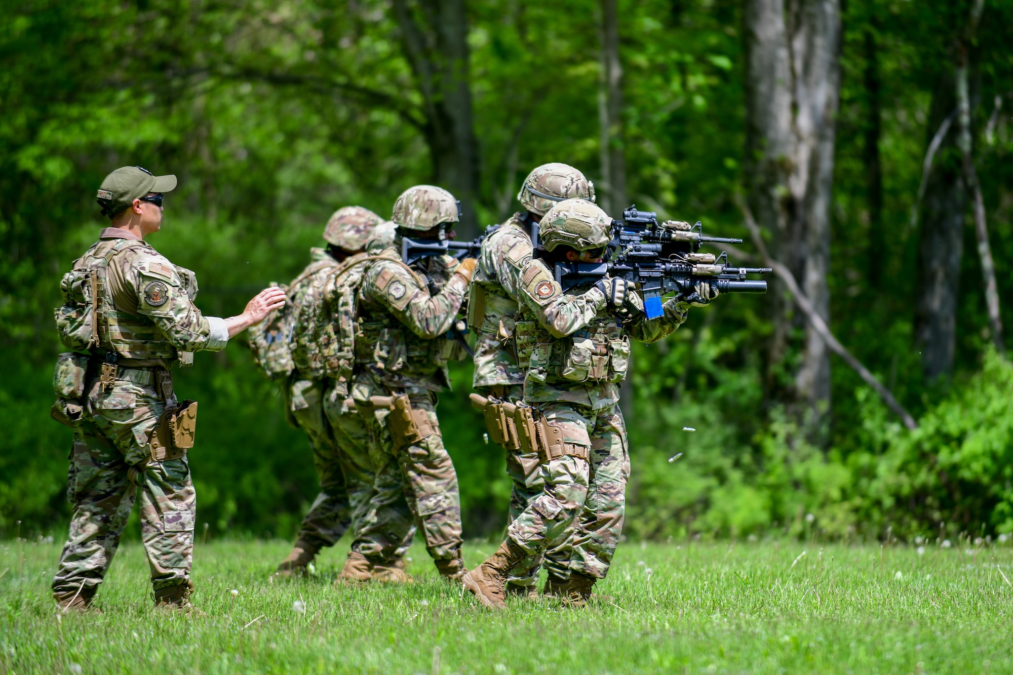
<svg viewBox="0 0 1013 675"><path fill-rule="evenodd" d="M121 374L147 372L125 370ZM53 590L74 593L102 583L137 500L154 590L186 583L197 514L189 465L186 457L151 461L148 446L165 402L153 386L128 380L100 392L96 379L87 392L70 457L67 497L74 513ZM131 465L141 469L136 482L128 477Z"/></svg>

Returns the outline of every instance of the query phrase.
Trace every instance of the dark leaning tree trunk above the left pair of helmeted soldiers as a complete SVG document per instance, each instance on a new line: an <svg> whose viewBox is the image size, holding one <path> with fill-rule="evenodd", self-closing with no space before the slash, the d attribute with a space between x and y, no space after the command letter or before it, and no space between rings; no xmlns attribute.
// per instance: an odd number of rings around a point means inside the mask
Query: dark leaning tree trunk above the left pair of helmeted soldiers
<svg viewBox="0 0 1013 675"><path fill-rule="evenodd" d="M433 181L461 200L461 234L478 231L478 144L472 126L465 0L394 0L401 44L422 95Z"/></svg>

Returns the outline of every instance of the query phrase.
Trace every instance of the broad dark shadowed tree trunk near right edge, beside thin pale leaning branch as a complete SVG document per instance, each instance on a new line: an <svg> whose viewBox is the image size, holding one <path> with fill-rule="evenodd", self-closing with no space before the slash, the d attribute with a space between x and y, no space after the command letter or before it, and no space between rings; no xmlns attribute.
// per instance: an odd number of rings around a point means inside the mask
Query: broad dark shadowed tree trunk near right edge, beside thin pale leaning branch
<svg viewBox="0 0 1013 675"><path fill-rule="evenodd" d="M955 103L953 78L945 73L933 94L930 134L949 117ZM924 199L917 339L922 369L926 379L931 381L952 369L956 335L956 298L967 190L953 133L943 138L936 151L926 179Z"/></svg>

